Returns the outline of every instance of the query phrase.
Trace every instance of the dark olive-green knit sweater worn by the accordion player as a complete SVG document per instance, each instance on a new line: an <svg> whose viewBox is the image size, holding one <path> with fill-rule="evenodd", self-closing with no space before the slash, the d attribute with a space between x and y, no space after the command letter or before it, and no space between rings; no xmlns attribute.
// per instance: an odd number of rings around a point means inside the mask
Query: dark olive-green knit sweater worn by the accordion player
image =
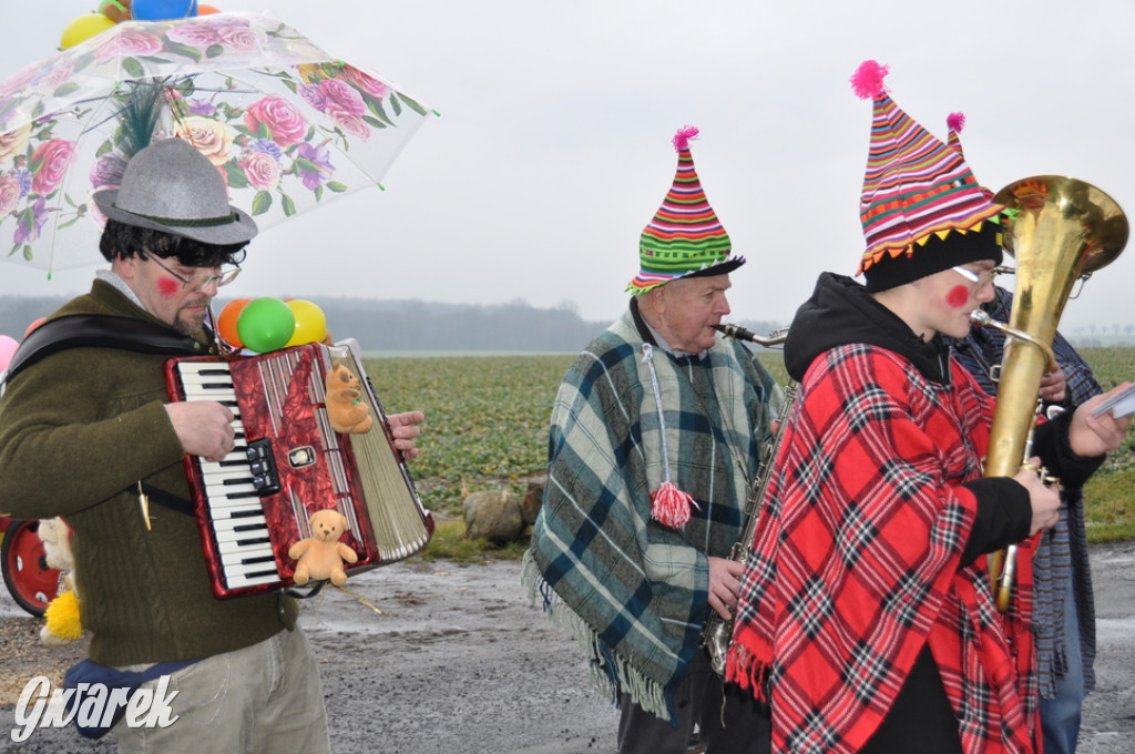
<svg viewBox="0 0 1135 754"><path fill-rule="evenodd" d="M102 280L52 317L77 313L158 322ZM152 504L146 529L140 479L190 497L163 408L167 358L60 351L19 374L0 400L0 511L70 523L91 659L109 665L245 647L293 627L299 610L276 593L215 598L194 517Z"/></svg>

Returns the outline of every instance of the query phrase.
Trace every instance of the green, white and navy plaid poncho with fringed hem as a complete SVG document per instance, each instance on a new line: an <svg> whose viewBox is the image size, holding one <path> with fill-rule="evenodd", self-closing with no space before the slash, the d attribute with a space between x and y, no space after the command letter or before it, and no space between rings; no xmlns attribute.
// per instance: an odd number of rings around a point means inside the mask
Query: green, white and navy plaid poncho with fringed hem
<svg viewBox="0 0 1135 754"><path fill-rule="evenodd" d="M699 357L654 349L671 479L697 502L681 529L650 518L665 479L642 337L630 312L579 355L556 396L548 481L523 581L580 640L592 679L674 720L673 690L698 650L707 555L740 536L768 436L775 380L743 345Z"/></svg>

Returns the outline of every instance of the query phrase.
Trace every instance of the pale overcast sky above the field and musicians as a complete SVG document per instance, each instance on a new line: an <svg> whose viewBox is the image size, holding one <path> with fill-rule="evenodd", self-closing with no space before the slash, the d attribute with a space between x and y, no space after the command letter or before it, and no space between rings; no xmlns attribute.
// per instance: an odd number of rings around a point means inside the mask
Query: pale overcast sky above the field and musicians
<svg viewBox="0 0 1135 754"><path fill-rule="evenodd" d="M230 5L238 3L238 5ZM51 55L96 0L8 3L0 78ZM791 319L822 270L852 274L871 104L848 77L891 68L894 100L962 143L993 190L1039 174L1095 184L1135 213L1135 5L1032 0L225 0L269 10L442 112L362 191L258 237L238 296L574 302L612 319L638 236L695 164L749 263L733 316ZM92 250L92 255L96 251ZM91 269L0 266L0 293L85 291ZM1135 251L1069 302L1061 329L1135 321Z"/></svg>

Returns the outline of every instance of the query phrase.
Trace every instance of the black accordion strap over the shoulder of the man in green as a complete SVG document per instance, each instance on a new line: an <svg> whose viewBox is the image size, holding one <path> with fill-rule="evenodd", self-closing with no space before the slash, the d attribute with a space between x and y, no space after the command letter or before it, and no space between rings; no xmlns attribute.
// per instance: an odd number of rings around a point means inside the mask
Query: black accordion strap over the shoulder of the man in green
<svg viewBox="0 0 1135 754"><path fill-rule="evenodd" d="M104 347L140 353L203 355L205 345L168 327L129 317L69 315L43 322L19 344L3 382L65 349Z"/></svg>

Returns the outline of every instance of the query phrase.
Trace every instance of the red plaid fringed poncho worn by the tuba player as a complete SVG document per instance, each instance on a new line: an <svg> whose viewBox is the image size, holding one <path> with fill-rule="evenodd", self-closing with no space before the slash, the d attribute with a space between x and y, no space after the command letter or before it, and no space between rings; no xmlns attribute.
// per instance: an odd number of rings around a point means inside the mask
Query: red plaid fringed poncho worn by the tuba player
<svg viewBox="0 0 1135 754"><path fill-rule="evenodd" d="M801 383L748 559L726 677L772 707L773 751L850 754L928 645L964 751L1032 752L1029 553L1008 617L960 564L993 403L900 355L833 349Z"/></svg>

